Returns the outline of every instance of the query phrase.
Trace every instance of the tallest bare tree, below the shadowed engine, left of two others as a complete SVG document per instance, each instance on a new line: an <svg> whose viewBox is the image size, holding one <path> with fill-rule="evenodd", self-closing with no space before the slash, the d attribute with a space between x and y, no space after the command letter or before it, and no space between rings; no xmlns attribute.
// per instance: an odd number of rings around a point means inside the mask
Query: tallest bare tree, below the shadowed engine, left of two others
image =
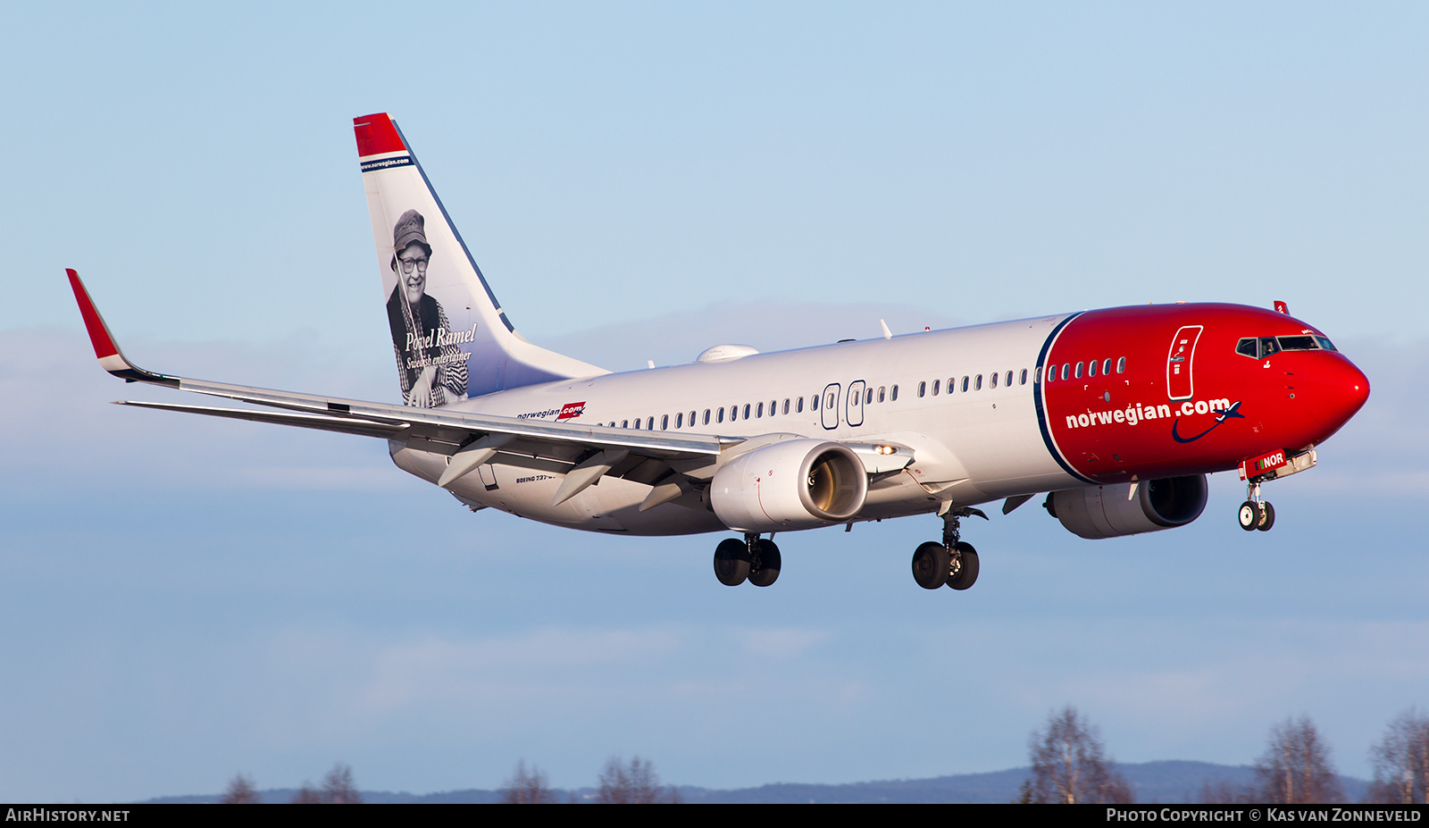
<svg viewBox="0 0 1429 828"><path fill-rule="evenodd" d="M1106 755L1102 735L1076 708L1067 705L1047 716L1046 728L1027 741L1032 779L1022 801L1132 802L1132 789Z"/></svg>

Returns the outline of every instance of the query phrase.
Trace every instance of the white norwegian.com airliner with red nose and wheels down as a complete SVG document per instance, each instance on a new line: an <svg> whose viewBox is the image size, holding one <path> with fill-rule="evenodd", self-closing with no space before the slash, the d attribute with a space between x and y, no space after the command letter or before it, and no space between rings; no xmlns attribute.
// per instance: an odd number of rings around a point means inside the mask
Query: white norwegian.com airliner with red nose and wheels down
<svg viewBox="0 0 1429 828"><path fill-rule="evenodd" d="M1083 538L1182 526L1206 473L1239 469L1239 521L1269 529L1260 485L1315 465L1369 382L1276 310L1165 305L840 342L777 353L716 345L689 365L610 373L516 333L396 123L354 119L403 405L184 379L120 353L69 270L100 365L264 409L124 402L383 438L396 465L472 511L632 535L737 532L730 586L779 576L776 532L942 518L913 553L927 589L967 589L962 518L1046 492Z"/></svg>

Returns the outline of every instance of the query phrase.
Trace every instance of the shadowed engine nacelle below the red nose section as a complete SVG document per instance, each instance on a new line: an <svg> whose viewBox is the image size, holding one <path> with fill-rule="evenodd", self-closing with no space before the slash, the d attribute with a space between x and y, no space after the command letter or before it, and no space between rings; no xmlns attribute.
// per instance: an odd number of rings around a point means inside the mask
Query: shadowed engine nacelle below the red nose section
<svg viewBox="0 0 1429 828"><path fill-rule="evenodd" d="M1206 508L1206 475L1052 492L1046 508L1083 538L1160 532L1200 516Z"/></svg>

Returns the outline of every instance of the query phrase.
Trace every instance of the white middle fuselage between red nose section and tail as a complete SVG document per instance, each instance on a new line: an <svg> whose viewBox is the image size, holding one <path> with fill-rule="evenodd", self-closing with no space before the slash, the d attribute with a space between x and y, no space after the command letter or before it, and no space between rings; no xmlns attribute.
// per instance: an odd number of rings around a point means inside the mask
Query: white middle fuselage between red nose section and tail
<svg viewBox="0 0 1429 828"><path fill-rule="evenodd" d="M875 480L856 519L895 518L933 512L947 502L972 505L1079 485L1042 440L1033 399L1040 388L1033 382L1039 352L1063 319L549 382L449 408L554 420L570 403L584 403L574 420L584 426L899 445L912 450L913 463ZM447 463L446 455L402 443L393 443L393 460L432 482ZM567 463L499 453L450 489L474 503L579 529L640 535L725 529L712 511L690 502L640 512L650 486L612 476L552 506L567 469Z"/></svg>

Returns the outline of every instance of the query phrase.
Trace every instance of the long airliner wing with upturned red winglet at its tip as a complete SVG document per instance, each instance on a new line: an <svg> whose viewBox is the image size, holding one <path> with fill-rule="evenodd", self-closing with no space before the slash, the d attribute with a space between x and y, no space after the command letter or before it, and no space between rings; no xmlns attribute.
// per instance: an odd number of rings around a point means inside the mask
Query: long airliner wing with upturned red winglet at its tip
<svg viewBox="0 0 1429 828"><path fill-rule="evenodd" d="M719 438L714 435L682 433L676 436L663 432L637 432L630 429L526 420L453 409L410 408L154 373L136 366L124 358L114 337L110 335L109 326L104 325L99 309L84 289L84 283L80 282L79 273L73 269L66 272L70 277L70 287L74 290L74 299L79 302L80 315L84 317L84 327L89 330L90 343L94 346L94 356L99 358L99 363L104 370L127 382L163 385L284 410L273 412L130 400L120 405L387 438L404 442L414 449L446 455L456 455L463 448L474 448L474 445L480 443L482 446L492 445L500 448L503 452L576 463L586 460L596 452L610 452L612 455L619 452L620 456L629 453L633 458L652 458L666 462L693 460L694 465L700 465L700 460L713 460L717 458L722 448L743 442L742 439Z"/></svg>

